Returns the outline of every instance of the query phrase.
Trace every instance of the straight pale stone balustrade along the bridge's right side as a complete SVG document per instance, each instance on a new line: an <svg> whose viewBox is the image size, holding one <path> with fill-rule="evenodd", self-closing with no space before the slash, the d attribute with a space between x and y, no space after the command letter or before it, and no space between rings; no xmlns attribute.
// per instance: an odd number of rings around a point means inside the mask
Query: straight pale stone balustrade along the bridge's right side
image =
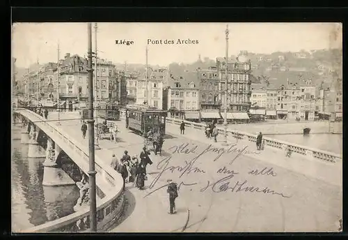
<svg viewBox="0 0 348 240"><path fill-rule="evenodd" d="M166 118L167 123L172 123L176 125L180 125L182 123L181 119L173 119L173 118ZM201 129L205 130L205 124L204 123L195 123L191 121L184 121L185 126L188 126L189 128L196 128L196 129ZM224 128L217 127L219 130L219 133L223 134L225 133ZM247 128L247 126L246 126ZM234 137L235 139L238 140L248 140L249 142L256 142L256 138L258 137L255 134L251 133L244 133L242 131L238 130L227 130L228 137ZM264 141L264 145L274 147L276 149L290 149L290 151L294 153L299 153L302 156L307 156L309 158L317 158L319 160L325 160L329 162L337 162L338 160L342 160L342 156L337 153L331 153L329 151L323 151L320 149L314 149L310 147L303 147L298 144L293 144L290 142L285 142L285 141L280 141L280 140L274 140L269 137L262 137L262 140Z"/></svg>

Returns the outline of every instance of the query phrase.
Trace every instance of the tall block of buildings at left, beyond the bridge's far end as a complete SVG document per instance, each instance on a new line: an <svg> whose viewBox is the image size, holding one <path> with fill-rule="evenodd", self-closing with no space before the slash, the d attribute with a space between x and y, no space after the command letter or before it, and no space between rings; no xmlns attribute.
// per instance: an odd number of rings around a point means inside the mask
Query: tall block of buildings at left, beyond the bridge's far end
<svg viewBox="0 0 348 240"><path fill-rule="evenodd" d="M95 74L93 88L96 99L126 104L127 83L123 71L117 71L111 61L97 59L97 70L93 72ZM77 54L71 56L70 53L65 54L59 64L38 65L17 80L18 92L26 98L38 100L56 100L58 94L61 100L88 100L88 88L87 59Z"/></svg>

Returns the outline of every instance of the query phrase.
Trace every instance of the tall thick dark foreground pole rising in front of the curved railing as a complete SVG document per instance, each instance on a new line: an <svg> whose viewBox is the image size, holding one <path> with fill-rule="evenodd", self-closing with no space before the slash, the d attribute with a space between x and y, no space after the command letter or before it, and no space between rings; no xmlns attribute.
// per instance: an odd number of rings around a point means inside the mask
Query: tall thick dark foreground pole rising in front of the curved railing
<svg viewBox="0 0 348 240"><path fill-rule="evenodd" d="M94 119L93 119L93 68L92 68L92 24L88 23L88 149L89 149L89 186L90 186L90 232L97 232L97 204L95 186L95 149L94 149Z"/></svg>

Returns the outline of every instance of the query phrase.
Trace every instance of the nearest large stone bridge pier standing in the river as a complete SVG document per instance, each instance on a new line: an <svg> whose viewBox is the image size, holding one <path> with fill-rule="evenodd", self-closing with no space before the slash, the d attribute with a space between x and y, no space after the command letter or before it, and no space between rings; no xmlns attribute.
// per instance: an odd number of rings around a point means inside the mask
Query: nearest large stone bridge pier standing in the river
<svg viewBox="0 0 348 240"><path fill-rule="evenodd" d="M61 169L56 163L61 148L58 147L51 138L47 137L46 159L42 163L44 166L43 186L69 186L75 185L75 181Z"/></svg>

